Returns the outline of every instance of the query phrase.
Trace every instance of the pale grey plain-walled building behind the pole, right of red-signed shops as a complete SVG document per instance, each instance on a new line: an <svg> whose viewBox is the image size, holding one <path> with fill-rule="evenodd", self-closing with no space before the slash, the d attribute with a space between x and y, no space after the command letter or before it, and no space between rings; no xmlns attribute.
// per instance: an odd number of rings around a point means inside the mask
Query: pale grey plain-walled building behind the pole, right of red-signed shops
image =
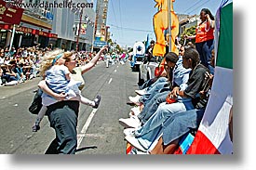
<svg viewBox="0 0 256 170"><path fill-rule="evenodd" d="M88 3L86 0L72 2L76 5ZM75 50L78 42L78 50L91 51L95 23L95 11L92 7L85 7L83 10L77 7L54 8L53 15L56 17L53 19L52 32L58 34L58 39L51 39L50 43L67 50Z"/></svg>

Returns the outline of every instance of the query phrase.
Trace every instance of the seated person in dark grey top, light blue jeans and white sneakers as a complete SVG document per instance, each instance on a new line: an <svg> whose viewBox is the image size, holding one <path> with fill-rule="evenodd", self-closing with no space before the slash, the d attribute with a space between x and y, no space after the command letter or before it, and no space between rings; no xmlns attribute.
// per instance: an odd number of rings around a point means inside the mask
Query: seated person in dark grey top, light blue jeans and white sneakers
<svg viewBox="0 0 256 170"><path fill-rule="evenodd" d="M169 117L172 117L177 112L193 110L196 104L200 102L201 99L197 94L203 90L206 81L205 73L209 72L209 70L200 64L199 54L194 48L189 48L185 51L182 57L182 64L184 68L190 68L192 71L185 90L181 90L180 87L174 87L172 92L169 93L168 98L176 98L177 101L171 104L161 103L145 124L138 129L127 131L125 138L131 145L138 147L139 150L148 150L149 144L143 137L144 135L151 132L155 136L161 128L161 124ZM141 145L137 145L138 143L141 143Z"/></svg>

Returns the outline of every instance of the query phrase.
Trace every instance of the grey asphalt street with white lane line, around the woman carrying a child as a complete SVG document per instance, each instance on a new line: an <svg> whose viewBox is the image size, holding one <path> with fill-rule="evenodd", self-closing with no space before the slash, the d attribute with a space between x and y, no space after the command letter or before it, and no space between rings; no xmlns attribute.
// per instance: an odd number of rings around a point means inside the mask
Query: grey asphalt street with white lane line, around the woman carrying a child
<svg viewBox="0 0 256 170"><path fill-rule="evenodd" d="M138 72L131 72L129 63L105 67L103 61L84 75L82 95L93 99L101 95L101 105L93 110L80 105L76 154L126 154L126 141L119 118L127 118L131 106L128 96L136 96ZM38 132L32 132L36 115L28 111L37 77L23 84L0 87L0 153L44 154L55 134L47 116Z"/></svg>

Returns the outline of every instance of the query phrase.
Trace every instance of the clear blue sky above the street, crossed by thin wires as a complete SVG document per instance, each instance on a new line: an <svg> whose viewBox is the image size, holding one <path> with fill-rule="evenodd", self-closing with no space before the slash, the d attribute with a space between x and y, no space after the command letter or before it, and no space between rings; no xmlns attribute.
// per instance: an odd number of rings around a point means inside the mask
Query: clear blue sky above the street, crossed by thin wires
<svg viewBox="0 0 256 170"><path fill-rule="evenodd" d="M221 3L222 0L176 0L173 6L179 14L199 15L201 8L207 7L215 15ZM148 33L149 38L155 40L153 16L156 12L154 0L109 0L107 25L111 39L123 47L146 40Z"/></svg>

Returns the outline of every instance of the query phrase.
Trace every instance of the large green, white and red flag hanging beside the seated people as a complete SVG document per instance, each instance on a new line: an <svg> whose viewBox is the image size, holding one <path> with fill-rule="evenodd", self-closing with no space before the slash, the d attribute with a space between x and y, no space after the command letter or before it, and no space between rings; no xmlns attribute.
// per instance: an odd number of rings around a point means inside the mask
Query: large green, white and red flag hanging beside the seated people
<svg viewBox="0 0 256 170"><path fill-rule="evenodd" d="M233 3L221 6L216 15L216 66L209 103L186 154L233 154Z"/></svg>

